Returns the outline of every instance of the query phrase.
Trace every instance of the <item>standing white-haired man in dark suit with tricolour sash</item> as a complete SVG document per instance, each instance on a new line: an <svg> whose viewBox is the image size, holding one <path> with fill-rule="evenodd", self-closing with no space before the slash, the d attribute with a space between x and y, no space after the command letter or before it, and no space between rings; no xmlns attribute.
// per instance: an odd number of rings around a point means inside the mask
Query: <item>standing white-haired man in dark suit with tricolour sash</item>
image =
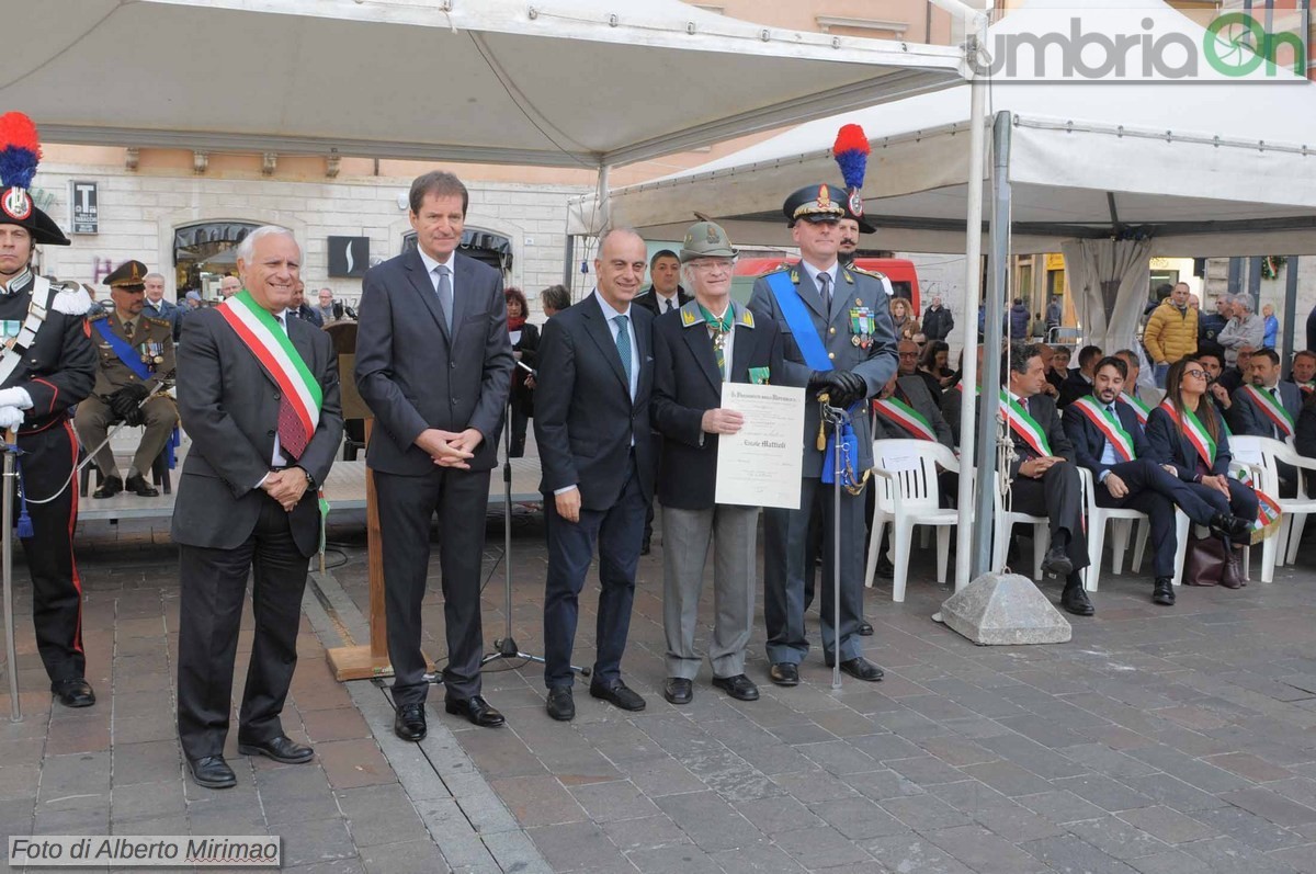
<svg viewBox="0 0 1316 874"><path fill-rule="evenodd" d="M209 788L237 782L224 740L253 571L238 752L287 763L313 754L283 733L279 713L297 662L307 559L320 545L316 491L342 440L342 409L329 336L286 319L300 262L291 232L253 230L237 255L245 291L193 312L178 351L178 407L192 438L171 530L182 579L178 733L192 778Z"/></svg>

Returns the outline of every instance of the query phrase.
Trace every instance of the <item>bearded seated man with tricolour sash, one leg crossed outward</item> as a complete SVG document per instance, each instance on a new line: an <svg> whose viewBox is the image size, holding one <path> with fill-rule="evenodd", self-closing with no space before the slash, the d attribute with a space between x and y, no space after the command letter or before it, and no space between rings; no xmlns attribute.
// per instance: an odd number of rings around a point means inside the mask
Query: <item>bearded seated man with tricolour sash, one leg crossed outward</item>
<svg viewBox="0 0 1316 874"><path fill-rule="evenodd" d="M1175 541L1174 505L1199 525L1244 537L1252 524L1219 512L1175 474L1152 458L1152 444L1138 416L1121 395L1128 370L1117 357L1098 362L1092 394L1065 411L1065 434L1074 445L1078 463L1092 471L1099 507L1129 507L1146 513L1152 523L1155 583L1152 600L1174 605ZM1100 555L1095 557L1100 561Z"/></svg>

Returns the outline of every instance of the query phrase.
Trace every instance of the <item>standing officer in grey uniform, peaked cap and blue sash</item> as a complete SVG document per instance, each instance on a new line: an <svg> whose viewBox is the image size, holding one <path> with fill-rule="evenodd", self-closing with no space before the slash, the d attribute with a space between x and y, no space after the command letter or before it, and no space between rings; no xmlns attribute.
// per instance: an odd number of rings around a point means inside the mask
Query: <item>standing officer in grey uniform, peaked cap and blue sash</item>
<svg viewBox="0 0 1316 874"><path fill-rule="evenodd" d="M836 193L844 196L837 188ZM859 623L863 620L863 496L841 495L841 513L833 519L834 486L821 482L824 451L816 445L820 405L826 394L833 407L854 407L851 421L858 441L854 471L873 467L873 437L866 401L896 373L896 340L891 325L884 276L837 263L838 222L845 207L828 186L809 186L787 197L783 212L801 261L759 276L749 308L757 320L775 321L782 329L783 384L807 386L804 408L804 469L800 509L763 511L763 616L767 623L770 678L778 686L800 682L799 665L809 650L804 633L804 578L811 570L809 523L821 521L822 583L821 637L828 665L857 679L882 679L882 669L863 658ZM801 324L791 324L791 311ZM797 333L796 333L797 332ZM811 354L812 350L812 354ZM819 359L820 357L820 359ZM841 566L833 567L833 537L840 532ZM833 628L834 580L841 584L841 627Z"/></svg>

